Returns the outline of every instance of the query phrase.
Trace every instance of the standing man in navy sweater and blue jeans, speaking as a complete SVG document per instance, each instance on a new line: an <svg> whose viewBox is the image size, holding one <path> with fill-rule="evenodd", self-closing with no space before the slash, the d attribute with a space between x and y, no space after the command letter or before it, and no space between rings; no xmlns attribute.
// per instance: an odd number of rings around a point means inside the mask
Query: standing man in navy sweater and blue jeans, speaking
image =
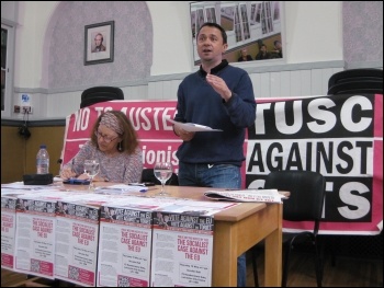
<svg viewBox="0 0 384 288"><path fill-rule="evenodd" d="M228 65L224 28L204 23L196 35L200 70L185 77L178 90L174 120L222 131L189 133L173 126L182 140L179 185L240 188L246 128L255 124L256 102L248 73ZM246 286L246 256L238 258L238 287Z"/></svg>

